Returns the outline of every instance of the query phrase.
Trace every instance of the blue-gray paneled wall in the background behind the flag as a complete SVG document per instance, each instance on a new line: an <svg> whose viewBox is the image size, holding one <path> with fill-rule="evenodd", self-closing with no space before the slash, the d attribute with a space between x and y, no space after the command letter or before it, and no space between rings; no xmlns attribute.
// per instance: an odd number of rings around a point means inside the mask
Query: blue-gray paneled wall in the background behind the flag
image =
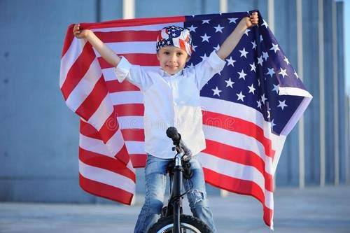
<svg viewBox="0 0 350 233"><path fill-rule="evenodd" d="M136 17L217 13L218 1L136 0ZM344 40L342 3L337 3L338 103L333 101L331 1L324 0L324 91L320 103L318 65L318 1L302 1L304 83L313 94L304 113L305 181L320 184L320 104L339 105L339 122L326 112L327 183L334 183L334 135L339 136L339 178L349 181L349 100L344 93ZM275 36L297 70L295 1L274 1ZM157 10L155 10L157 9ZM267 20L267 0L228 1L228 11L258 9ZM66 28L73 22L98 22L123 16L123 1L0 1L0 201L15 202L106 202L88 195L78 185L78 117L64 104L59 90L59 62ZM346 105L347 104L347 105ZM346 114L347 115L346 115ZM299 129L288 136L276 173L276 185L299 185ZM346 149L346 146L347 149ZM349 155L347 155L349 156ZM137 170L137 193L144 190L143 169ZM347 176L346 176L347 174ZM219 190L209 187L209 193Z"/></svg>

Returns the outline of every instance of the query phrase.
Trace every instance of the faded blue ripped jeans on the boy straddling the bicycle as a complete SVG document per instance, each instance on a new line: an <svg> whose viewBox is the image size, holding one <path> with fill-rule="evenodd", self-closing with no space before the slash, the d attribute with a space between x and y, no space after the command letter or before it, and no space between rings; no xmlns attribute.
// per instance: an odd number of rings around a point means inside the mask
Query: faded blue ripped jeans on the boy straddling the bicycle
<svg viewBox="0 0 350 233"><path fill-rule="evenodd" d="M135 233L145 233L157 222L162 211L167 183L167 164L171 159L161 159L148 155L145 169L146 196L139 218L135 226ZM193 216L207 223L213 232L216 232L213 214L209 209L207 192L205 191L203 169L195 157L190 160L193 176L193 189L187 194ZM183 187L187 191L192 187L190 181L183 179Z"/></svg>

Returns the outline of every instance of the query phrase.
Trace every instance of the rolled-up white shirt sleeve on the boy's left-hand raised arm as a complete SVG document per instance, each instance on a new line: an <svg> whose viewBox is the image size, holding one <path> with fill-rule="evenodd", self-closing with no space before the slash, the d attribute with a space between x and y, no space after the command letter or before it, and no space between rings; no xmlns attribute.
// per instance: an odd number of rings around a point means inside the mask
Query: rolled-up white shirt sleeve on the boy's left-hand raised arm
<svg viewBox="0 0 350 233"><path fill-rule="evenodd" d="M141 66L131 64L125 57L114 69L119 83L127 79L130 83L136 85L141 91L145 91L152 85L152 79Z"/></svg>

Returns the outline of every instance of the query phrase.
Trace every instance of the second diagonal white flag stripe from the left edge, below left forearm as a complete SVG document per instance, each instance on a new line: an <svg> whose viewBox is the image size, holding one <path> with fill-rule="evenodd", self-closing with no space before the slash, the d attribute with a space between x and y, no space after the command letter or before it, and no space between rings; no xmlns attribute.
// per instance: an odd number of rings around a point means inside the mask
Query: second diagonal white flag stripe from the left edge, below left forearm
<svg viewBox="0 0 350 233"><path fill-rule="evenodd" d="M78 109L79 106L83 103L101 76L102 72L99 67L99 63L95 58L85 73L84 77L80 80L78 85L76 85L71 94L69 94L69 97L66 99L66 104L69 106L69 108L71 108L73 112L75 112L76 109Z"/></svg>

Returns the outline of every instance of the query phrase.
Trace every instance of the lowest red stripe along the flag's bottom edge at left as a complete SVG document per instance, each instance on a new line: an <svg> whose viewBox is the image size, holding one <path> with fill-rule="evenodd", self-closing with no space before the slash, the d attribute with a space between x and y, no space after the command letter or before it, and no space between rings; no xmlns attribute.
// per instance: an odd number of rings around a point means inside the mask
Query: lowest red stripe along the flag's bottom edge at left
<svg viewBox="0 0 350 233"><path fill-rule="evenodd" d="M79 184L80 187L85 190L85 192L89 192L92 195L97 195L106 199L111 199L112 201L121 202L123 204L130 205L132 197L134 196L131 192L127 192L105 183L92 181L83 177L81 174L79 174Z"/></svg>

